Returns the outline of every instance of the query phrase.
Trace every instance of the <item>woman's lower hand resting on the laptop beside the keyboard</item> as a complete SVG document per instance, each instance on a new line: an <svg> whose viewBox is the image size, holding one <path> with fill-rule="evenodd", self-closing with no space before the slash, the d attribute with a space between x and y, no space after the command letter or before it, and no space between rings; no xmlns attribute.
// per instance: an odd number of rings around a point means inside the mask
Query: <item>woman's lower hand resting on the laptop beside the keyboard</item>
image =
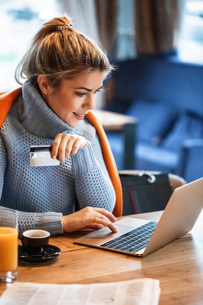
<svg viewBox="0 0 203 305"><path fill-rule="evenodd" d="M112 222L115 216L105 209L86 207L73 214L62 216L64 232L73 232L81 229L102 229L109 227L112 232L117 232Z"/></svg>

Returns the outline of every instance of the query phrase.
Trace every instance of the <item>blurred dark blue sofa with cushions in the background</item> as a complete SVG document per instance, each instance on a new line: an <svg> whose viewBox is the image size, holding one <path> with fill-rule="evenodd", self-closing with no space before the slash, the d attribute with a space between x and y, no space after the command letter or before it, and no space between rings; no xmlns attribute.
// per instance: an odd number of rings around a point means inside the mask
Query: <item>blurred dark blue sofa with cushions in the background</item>
<svg viewBox="0 0 203 305"><path fill-rule="evenodd" d="M113 77L115 95L105 109L137 118L134 169L171 172L187 182L202 177L203 65L140 56L118 63ZM107 136L124 170L122 135Z"/></svg>

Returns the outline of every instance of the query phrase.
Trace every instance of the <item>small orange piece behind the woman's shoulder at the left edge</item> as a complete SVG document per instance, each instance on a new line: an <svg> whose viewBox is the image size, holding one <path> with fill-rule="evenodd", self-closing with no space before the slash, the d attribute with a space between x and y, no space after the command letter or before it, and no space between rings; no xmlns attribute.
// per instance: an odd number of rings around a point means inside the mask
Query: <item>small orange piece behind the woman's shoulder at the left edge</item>
<svg viewBox="0 0 203 305"><path fill-rule="evenodd" d="M15 89L13 91L7 91L0 93L0 128L6 118L6 115L9 113L11 106L14 101L22 92L22 87Z"/></svg>

